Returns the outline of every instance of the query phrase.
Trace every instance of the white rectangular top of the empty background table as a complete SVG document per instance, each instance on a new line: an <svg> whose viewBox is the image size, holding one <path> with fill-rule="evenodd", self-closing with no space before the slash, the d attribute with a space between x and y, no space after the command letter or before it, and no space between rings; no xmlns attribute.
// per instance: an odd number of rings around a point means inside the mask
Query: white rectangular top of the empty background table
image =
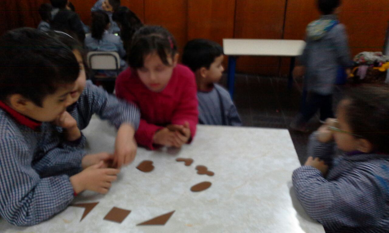
<svg viewBox="0 0 389 233"><path fill-rule="evenodd" d="M284 56L303 53L303 40L223 39L224 54L228 56Z"/></svg>

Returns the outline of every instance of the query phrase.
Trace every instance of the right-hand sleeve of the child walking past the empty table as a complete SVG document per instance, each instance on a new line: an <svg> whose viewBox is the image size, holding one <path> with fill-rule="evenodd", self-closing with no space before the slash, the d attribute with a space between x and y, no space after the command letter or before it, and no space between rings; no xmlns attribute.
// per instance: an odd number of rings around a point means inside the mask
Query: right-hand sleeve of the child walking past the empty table
<svg viewBox="0 0 389 233"><path fill-rule="evenodd" d="M345 26L343 24L338 24L331 30L331 33L338 63L345 67L352 66L353 64L351 61L350 47Z"/></svg>

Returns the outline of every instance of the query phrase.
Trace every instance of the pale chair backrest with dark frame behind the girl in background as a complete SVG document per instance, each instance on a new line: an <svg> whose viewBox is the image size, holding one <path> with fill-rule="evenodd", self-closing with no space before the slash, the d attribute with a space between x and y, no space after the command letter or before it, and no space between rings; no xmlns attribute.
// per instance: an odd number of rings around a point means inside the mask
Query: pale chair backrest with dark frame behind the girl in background
<svg viewBox="0 0 389 233"><path fill-rule="evenodd" d="M120 56L117 52L88 52L88 65L92 70L116 70L120 68Z"/></svg>

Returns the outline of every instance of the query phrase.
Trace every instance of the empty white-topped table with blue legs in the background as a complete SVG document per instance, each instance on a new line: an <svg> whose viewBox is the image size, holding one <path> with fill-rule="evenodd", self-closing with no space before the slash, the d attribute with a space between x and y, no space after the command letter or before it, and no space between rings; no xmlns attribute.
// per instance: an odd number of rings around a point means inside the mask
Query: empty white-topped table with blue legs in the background
<svg viewBox="0 0 389 233"><path fill-rule="evenodd" d="M295 57L302 54L304 47L303 40L223 39L224 54L229 56L227 80L231 98L234 93L237 56L291 57L288 77L288 87L291 88Z"/></svg>

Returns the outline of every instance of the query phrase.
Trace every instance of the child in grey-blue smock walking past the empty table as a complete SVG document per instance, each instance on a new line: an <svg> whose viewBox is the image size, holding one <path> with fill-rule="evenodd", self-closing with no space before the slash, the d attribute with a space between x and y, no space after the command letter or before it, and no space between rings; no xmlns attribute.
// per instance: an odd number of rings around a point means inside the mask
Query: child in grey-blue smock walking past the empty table
<svg viewBox="0 0 389 233"><path fill-rule="evenodd" d="M307 131L307 122L320 109L320 121L333 117L332 94L340 67L352 66L347 34L338 21L341 0L316 0L322 16L307 26L307 45L299 60L302 66L294 69L294 76L304 78L307 103L294 118L293 130ZM303 99L303 101L305 101Z"/></svg>

